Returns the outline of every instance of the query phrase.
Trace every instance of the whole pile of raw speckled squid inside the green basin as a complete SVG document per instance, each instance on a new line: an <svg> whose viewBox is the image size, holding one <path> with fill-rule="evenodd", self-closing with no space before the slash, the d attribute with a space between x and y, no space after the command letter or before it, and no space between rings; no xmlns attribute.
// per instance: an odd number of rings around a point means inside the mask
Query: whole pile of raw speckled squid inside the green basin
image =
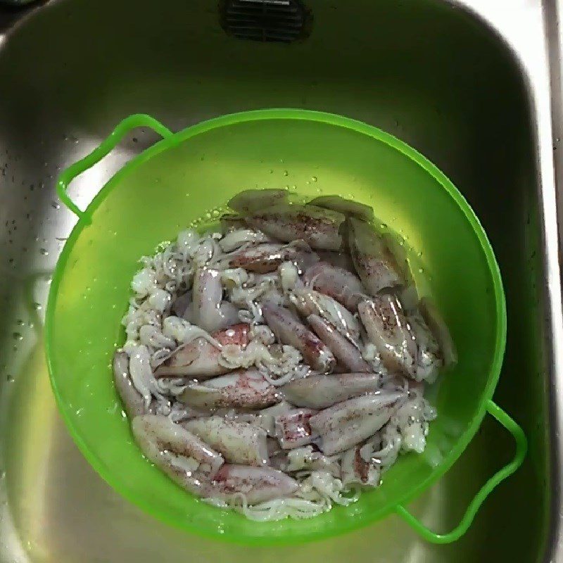
<svg viewBox="0 0 563 563"><path fill-rule="evenodd" d="M144 456L205 502L267 521L357 500L422 453L455 363L372 209L248 190L132 280L114 380Z"/></svg>

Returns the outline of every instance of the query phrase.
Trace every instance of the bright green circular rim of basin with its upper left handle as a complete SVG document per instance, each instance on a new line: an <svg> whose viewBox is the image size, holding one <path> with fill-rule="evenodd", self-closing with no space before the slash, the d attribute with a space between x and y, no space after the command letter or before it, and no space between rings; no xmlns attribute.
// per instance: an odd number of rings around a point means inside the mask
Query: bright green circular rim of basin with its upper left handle
<svg viewBox="0 0 563 563"><path fill-rule="evenodd" d="M70 255L72 255L72 251L77 245L77 241L79 240L84 228L91 224L94 213L103 203L103 201L105 201L106 198L111 194L111 192L116 187L118 187L119 184L128 175L131 175L132 172L137 170L141 165L144 165L144 163L147 163L148 160L151 160L151 158L156 157L164 151L168 151L169 149L177 147L187 139L193 139L198 135L213 132L215 131L215 129L220 129L222 127L229 127L232 125L239 125L248 122L268 122L271 120L305 121L341 127L343 129L365 135L367 137L370 137L371 139L375 139L380 143L385 144L389 148L392 148L394 151L398 151L398 153L411 160L412 163L416 163L418 167L422 168L424 172L430 175L436 182L438 182L438 184L441 185L441 187L447 192L450 198L455 202L457 208L459 208L459 210L462 212L464 219L467 220L467 223L471 226L474 235L479 242L481 251L486 259L488 270L491 274L491 290L495 302L495 331L494 335L492 336L494 343L491 342L491 345L494 348L494 355L491 360L491 367L488 373L486 385L483 387L483 391L481 393L481 404L479 408L474 411L474 415L470 421L470 424L467 426L467 429L465 429L460 437L457 438L455 445L453 445L448 455L444 457L443 460L441 460L438 467L436 467L436 469L434 469L434 471L431 472L431 474L429 474L429 476L427 476L425 479L422 479L421 481L415 483L415 485L413 485L408 491L405 491L403 495L400 495L400 497L397 499L397 502L395 502L393 506L387 507L386 510L377 512L377 514L374 514L373 517L372 515L367 514L358 518L348 518L346 519L346 521L343 521L341 523L338 529L326 530L320 528L315 531L308 531L307 533L303 534L292 533L291 537L284 536L284 533L279 533L278 535L272 533L272 536L269 537L241 536L236 533L229 533L229 531L217 533L217 530L198 526L197 521L191 521L190 524L175 521L175 519L171 519L165 511L159 510L158 507L150 502L150 500L137 495L134 491L132 491L131 488L129 488L127 481L122 479L122 477L118 474L115 474L115 472L112 472L110 467L108 467L103 462L103 460L100 459L100 457L91 449L87 441L84 440L80 428L77 425L77 419L73 414L75 405L69 407L67 401L65 400L62 387L64 384L63 381L59 379L55 362L53 362L53 357L56 354L56 343L53 341L53 332L55 330L56 323L56 310L58 306L61 283L63 281L65 270L69 267ZM80 211L80 209L78 209L76 205L72 203L72 201L66 194L68 184L74 177L84 172L84 170L87 170L87 168L91 167L91 165L94 165L94 163L103 158L103 156L105 156L115 146L115 144L117 144L117 142L123 137L125 133L129 132L130 129L139 126L153 127L153 129L156 129L158 132L165 135L165 138L133 158L131 161L129 161L129 163L122 167L122 169L119 170L105 186L103 186L101 191L99 191L99 193L88 205L87 209L83 212ZM181 526L187 531L198 533L202 536L221 540L231 540L239 543L248 543L253 545L298 543L306 540L335 536L339 533L345 533L353 529L358 529L361 526L365 526L369 522L374 521L375 519L384 517L390 512L397 511L398 507L402 507L402 505L405 505L407 502L417 497L417 495L424 491L424 489L429 487L432 483L436 482L445 472L448 471L448 469L450 469L453 463L457 460L458 457L460 457L464 449L467 447L469 441L471 441L477 429L479 429L481 421L486 415L488 405L490 405L491 399L493 397L495 387L498 383L498 378L500 377L500 369L502 367L502 359L505 350L507 331L506 306L505 294L502 288L502 280L500 277L499 267L495 260L491 244L489 243L479 220L477 219L476 215L474 214L472 208L470 208L465 198L462 196L462 194L460 194L460 191L458 191L453 183L450 182L450 180L445 177L445 175L440 170L438 170L435 165L429 162L429 160L418 153L414 148L408 146L396 137L393 137L391 134L388 134L381 129L377 129L376 127L372 127L371 125L367 125L363 122L359 122L350 118L344 118L340 115L296 109L265 109L235 113L232 115L224 115L220 118L215 118L201 122L192 127L188 127L187 129L177 132L176 134L170 134L166 127L160 125L158 122L155 122L153 118L150 118L149 116L133 115L121 122L120 125L116 127L115 131L110 135L110 137L103 141L99 148L96 148L93 153L86 156L78 163L75 163L75 165L72 165L67 170L63 171L58 179L57 189L59 194L61 195L61 199L63 199L63 203L65 203L65 205L67 205L73 211L73 213L76 213L79 216L79 220L74 229L72 229L72 232L63 248L61 256L56 265L51 283L51 289L49 291L49 301L46 310L46 357L53 393L56 397L58 407L61 410L61 414L63 416L63 419L65 420L65 424L67 424L68 426L72 438L74 438L78 447L84 454L84 457L87 458L91 466L94 467L96 472L98 472L103 477L103 479L105 479L110 484L110 486L113 486L113 488L118 490L123 496L125 496L125 498L139 505L139 507L150 512L155 517L167 522L168 524ZM155 244L158 242L159 241L154 241ZM524 453L522 453L522 448L519 448L519 453L517 455L518 459L516 462L517 466L521 464L521 460L524 458ZM511 466L511 469L515 470L516 467ZM505 476L503 476L502 478L505 478ZM487 491L486 494L490 492L491 491ZM481 499L481 502L482 500L484 500L484 497ZM469 526L469 524L467 524L467 527ZM260 526L261 524L253 525Z"/></svg>

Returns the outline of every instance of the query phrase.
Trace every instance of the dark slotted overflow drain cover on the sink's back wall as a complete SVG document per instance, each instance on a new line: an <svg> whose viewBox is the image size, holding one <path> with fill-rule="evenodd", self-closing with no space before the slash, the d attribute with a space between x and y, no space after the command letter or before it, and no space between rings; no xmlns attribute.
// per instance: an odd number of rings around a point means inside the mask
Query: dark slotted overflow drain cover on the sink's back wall
<svg viewBox="0 0 563 563"><path fill-rule="evenodd" d="M308 36L312 16L298 0L225 0L223 29L239 39L290 43Z"/></svg>

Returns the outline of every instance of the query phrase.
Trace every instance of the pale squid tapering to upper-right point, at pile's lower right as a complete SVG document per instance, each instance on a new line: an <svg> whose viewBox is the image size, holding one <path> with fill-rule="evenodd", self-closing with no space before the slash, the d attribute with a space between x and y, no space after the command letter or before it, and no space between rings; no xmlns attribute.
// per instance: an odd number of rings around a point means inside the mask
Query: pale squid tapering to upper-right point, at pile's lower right
<svg viewBox="0 0 563 563"><path fill-rule="evenodd" d="M320 435L320 450L324 455L334 455L373 436L405 397L400 391L379 391L336 403L313 415L309 424Z"/></svg>

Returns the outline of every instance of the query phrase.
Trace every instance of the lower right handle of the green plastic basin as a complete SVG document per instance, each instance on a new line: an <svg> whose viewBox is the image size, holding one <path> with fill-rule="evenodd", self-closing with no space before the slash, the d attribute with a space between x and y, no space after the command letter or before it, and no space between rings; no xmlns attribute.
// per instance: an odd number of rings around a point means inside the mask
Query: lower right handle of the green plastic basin
<svg viewBox="0 0 563 563"><path fill-rule="evenodd" d="M479 492L474 496L473 500L469 503L469 507L465 511L460 524L456 526L455 529L450 531L449 533L436 533L424 526L422 522L417 520L410 512L403 505L398 505L396 507L397 514L403 518L410 524L412 528L414 528L425 540L431 543L452 543L454 541L459 540L465 532L471 526L475 514L479 510L479 507L483 504L485 499L488 495L491 494L493 489L501 482L504 481L507 477L512 475L524 462L524 457L526 457L526 450L528 448L528 444L526 441L526 435L521 427L514 422L514 420L507 415L507 413L502 410L496 403L493 403L492 400L488 400L486 403L487 405L487 412L490 415L493 415L495 419L502 424L502 426L507 429L510 434L514 437L514 441L516 442L516 452L514 453L514 458L512 461L502 467L498 472L496 472L491 479L489 479L479 490Z"/></svg>

